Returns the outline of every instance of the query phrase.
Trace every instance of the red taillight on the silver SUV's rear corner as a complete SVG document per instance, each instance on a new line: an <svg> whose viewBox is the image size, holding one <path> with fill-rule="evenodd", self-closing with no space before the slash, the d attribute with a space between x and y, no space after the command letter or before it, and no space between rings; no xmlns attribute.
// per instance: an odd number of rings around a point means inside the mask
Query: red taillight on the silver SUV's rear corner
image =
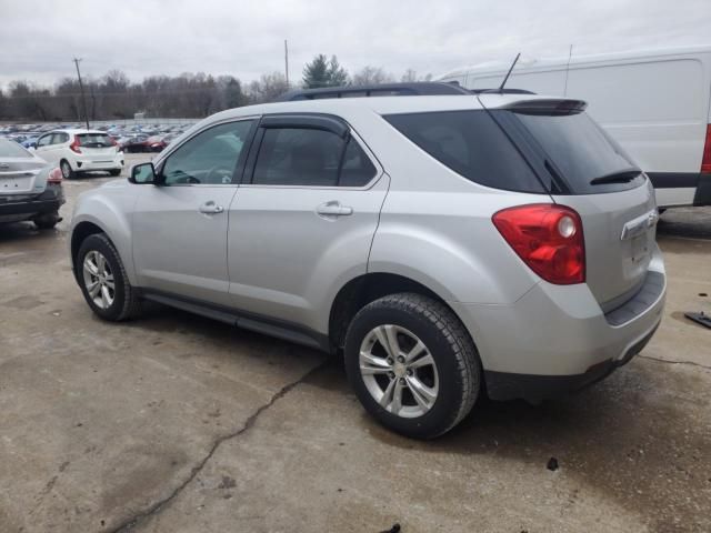
<svg viewBox="0 0 711 533"><path fill-rule="evenodd" d="M585 243L580 215L552 203L499 211L493 223L523 262L559 285L585 281Z"/></svg>

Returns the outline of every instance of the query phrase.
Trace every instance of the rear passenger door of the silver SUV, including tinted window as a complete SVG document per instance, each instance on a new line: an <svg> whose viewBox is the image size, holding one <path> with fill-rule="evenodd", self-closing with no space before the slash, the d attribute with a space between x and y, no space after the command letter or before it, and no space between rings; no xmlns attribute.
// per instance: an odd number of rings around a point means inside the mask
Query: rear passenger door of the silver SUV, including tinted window
<svg viewBox="0 0 711 533"><path fill-rule="evenodd" d="M333 118L266 117L253 145L230 209L233 304L323 330L334 288L367 271L388 177Z"/></svg>

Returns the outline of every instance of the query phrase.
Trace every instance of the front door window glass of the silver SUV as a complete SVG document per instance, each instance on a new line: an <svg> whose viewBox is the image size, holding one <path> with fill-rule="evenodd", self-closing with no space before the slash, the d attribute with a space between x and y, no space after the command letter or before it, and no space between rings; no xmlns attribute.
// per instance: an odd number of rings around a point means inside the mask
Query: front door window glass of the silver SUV
<svg viewBox="0 0 711 533"><path fill-rule="evenodd" d="M166 161L164 183L231 183L251 125L251 120L229 122L193 137Z"/></svg>

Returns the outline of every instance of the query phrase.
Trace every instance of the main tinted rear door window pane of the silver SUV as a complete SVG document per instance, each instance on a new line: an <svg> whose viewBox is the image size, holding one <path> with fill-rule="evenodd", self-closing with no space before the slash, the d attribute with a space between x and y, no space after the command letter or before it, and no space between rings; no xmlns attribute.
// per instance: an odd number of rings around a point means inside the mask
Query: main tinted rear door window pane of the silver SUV
<svg viewBox="0 0 711 533"><path fill-rule="evenodd" d="M268 128L252 183L334 187L342 151L343 140L328 131Z"/></svg>

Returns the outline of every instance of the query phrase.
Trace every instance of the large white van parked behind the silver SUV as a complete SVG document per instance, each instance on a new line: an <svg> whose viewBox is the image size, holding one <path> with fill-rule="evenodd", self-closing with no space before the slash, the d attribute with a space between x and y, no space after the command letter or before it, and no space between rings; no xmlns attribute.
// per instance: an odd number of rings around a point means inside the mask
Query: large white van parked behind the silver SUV
<svg viewBox="0 0 711 533"><path fill-rule="evenodd" d="M510 63L439 81L497 89ZM711 47L520 60L507 89L579 98L648 173L659 207L711 204Z"/></svg>

